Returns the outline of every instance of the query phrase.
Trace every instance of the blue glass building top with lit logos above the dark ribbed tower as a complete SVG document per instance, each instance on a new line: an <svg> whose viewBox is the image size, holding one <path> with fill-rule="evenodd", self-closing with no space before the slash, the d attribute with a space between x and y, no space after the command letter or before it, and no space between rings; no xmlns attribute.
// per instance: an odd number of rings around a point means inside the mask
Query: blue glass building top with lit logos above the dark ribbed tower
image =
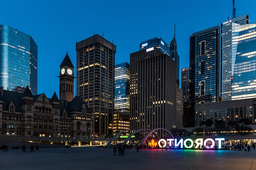
<svg viewBox="0 0 256 170"><path fill-rule="evenodd" d="M160 38L152 38L146 41L142 41L139 44L140 50L145 50L147 48L156 47L158 48L163 54L168 54L170 56L170 47L168 44L160 37Z"/></svg>

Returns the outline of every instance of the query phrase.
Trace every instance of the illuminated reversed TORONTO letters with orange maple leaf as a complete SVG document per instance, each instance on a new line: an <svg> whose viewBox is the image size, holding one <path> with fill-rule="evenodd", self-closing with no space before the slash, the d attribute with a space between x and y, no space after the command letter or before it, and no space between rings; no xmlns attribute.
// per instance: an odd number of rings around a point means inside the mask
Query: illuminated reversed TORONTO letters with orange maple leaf
<svg viewBox="0 0 256 170"><path fill-rule="evenodd" d="M195 141L195 142L194 142ZM195 149L197 148L202 148L202 146L204 146L205 148L208 149L212 149L214 148L214 146L216 146L216 144L218 143L218 148L221 149L222 148L222 144L221 142L225 141L225 138L207 138L207 139L203 139L203 138L198 138L198 139L180 139L178 141L178 139L159 139L158 142L155 142L154 139L151 140L151 142L149 142L148 144L150 146L156 146L158 144L158 146L160 148L165 147L167 145L167 142L169 142L169 146L175 146L175 147L179 147L180 148L192 148L194 146ZM157 143L157 144L155 144Z"/></svg>

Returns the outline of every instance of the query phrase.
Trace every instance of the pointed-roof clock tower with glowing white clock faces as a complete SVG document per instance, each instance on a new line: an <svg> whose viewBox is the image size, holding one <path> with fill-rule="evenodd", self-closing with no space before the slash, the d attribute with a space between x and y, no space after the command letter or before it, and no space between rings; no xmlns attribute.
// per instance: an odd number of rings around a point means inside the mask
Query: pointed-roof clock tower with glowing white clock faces
<svg viewBox="0 0 256 170"><path fill-rule="evenodd" d="M70 102L74 98L74 66L68 54L60 65L60 99Z"/></svg>

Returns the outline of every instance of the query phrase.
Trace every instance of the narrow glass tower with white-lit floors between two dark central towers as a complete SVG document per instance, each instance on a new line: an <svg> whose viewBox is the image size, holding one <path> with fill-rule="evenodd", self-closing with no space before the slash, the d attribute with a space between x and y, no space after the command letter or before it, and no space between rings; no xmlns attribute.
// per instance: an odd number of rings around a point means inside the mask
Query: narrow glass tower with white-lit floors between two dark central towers
<svg viewBox="0 0 256 170"><path fill-rule="evenodd" d="M130 64L115 65L115 111L130 112Z"/></svg>

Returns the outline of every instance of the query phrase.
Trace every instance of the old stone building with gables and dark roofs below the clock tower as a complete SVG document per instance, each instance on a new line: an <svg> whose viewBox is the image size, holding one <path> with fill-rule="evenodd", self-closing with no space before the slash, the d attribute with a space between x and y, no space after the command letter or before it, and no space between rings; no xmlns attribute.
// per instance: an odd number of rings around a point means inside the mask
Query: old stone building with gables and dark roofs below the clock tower
<svg viewBox="0 0 256 170"><path fill-rule="evenodd" d="M72 101L43 94L11 92L0 87L2 136L91 137L92 111L75 96Z"/></svg>

